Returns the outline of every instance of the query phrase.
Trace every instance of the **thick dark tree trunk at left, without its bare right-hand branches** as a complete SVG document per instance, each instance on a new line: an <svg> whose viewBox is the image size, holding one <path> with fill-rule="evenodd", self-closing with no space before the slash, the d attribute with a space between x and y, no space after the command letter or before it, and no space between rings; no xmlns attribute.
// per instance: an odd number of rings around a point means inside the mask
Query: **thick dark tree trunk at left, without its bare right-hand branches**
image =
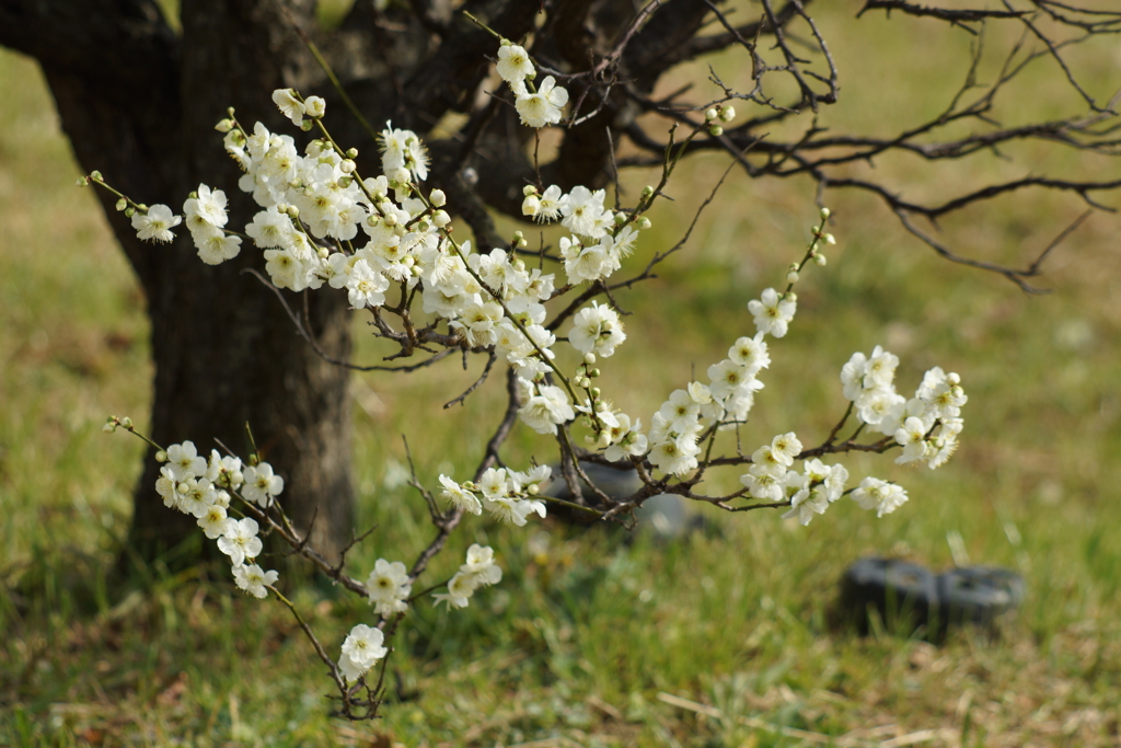
<svg viewBox="0 0 1121 748"><path fill-rule="evenodd" d="M280 127L272 90L299 85L314 67L293 22L309 0L198 0L183 6L182 38L146 0L0 3L0 44L36 57L74 154L137 202L179 212L201 182L222 188L232 215L253 207L214 124L230 105L252 124ZM288 18L285 17L287 13ZM192 440L209 453L220 440L245 453L245 425L285 478L284 506L328 558L350 537L348 372L296 334L275 293L244 273L262 269L247 242L219 267L203 265L186 231L170 246L137 240L129 220L99 197L147 299L155 361L151 436ZM287 294L295 308L303 299ZM350 353L346 298L308 298L309 332L330 355ZM155 491L159 465L145 456L133 496L127 556L151 561L197 534Z"/></svg>

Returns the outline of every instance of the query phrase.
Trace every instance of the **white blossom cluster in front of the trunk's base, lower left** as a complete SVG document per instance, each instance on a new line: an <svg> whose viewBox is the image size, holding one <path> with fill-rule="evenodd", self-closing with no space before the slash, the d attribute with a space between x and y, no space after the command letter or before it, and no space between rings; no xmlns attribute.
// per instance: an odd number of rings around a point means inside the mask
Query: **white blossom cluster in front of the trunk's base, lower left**
<svg viewBox="0 0 1121 748"><path fill-rule="evenodd" d="M257 598L268 594L277 572L263 571L252 563L261 552L257 520L228 516L231 492L268 507L284 490L284 479L272 474L267 462L243 467L234 456L221 456L212 450L210 460L198 454L193 442L173 444L157 454L165 462L156 480L156 491L164 505L195 517L198 526L219 551L230 556L238 587Z"/></svg>

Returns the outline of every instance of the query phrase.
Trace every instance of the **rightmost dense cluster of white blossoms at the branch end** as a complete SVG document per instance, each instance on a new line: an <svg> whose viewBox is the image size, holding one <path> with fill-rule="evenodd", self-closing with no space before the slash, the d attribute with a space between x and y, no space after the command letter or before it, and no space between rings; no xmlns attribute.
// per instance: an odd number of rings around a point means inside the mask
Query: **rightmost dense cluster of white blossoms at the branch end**
<svg viewBox="0 0 1121 748"><path fill-rule="evenodd" d="M879 345L870 357L853 353L841 369L844 396L861 421L904 447L896 462L938 468L957 449L962 406L969 397L956 373L935 367L923 377L915 397L907 399L895 389L898 364L899 359Z"/></svg>

